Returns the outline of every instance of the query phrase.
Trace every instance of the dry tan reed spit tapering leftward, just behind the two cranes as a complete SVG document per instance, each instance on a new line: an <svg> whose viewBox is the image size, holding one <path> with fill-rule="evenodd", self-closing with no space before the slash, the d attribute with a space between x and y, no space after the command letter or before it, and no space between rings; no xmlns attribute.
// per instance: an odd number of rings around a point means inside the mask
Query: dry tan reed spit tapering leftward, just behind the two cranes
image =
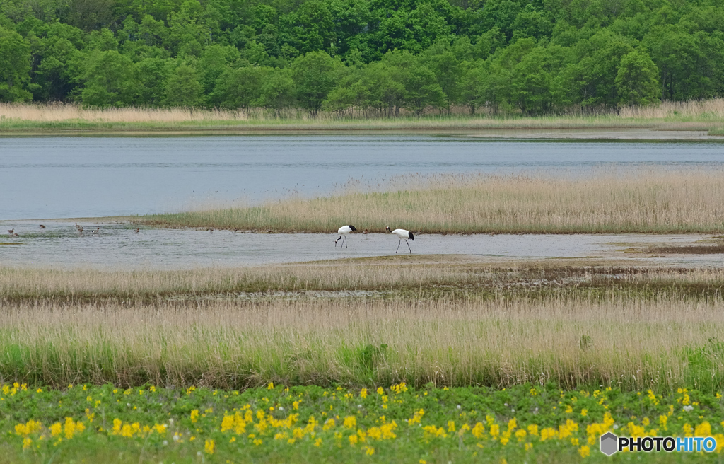
<svg viewBox="0 0 724 464"><path fill-rule="evenodd" d="M724 171L600 169L557 174L400 177L351 193L130 218L161 227L331 232L342 224L418 233L720 233Z"/></svg>

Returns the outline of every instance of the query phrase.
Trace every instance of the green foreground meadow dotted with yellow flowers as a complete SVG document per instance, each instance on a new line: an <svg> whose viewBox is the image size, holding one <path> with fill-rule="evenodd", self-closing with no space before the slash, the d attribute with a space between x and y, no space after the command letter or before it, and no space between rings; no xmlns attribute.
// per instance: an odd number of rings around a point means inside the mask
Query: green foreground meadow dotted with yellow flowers
<svg viewBox="0 0 724 464"><path fill-rule="evenodd" d="M0 462L678 463L717 462L720 450L610 458L599 436L712 435L724 445L720 392L37 387L3 386Z"/></svg>

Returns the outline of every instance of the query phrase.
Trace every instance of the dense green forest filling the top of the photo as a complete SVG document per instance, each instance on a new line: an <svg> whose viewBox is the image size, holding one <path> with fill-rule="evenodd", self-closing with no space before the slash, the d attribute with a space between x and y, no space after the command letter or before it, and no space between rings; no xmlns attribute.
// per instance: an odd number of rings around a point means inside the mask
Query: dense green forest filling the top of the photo
<svg viewBox="0 0 724 464"><path fill-rule="evenodd" d="M724 95L724 0L2 0L0 100L594 111Z"/></svg>

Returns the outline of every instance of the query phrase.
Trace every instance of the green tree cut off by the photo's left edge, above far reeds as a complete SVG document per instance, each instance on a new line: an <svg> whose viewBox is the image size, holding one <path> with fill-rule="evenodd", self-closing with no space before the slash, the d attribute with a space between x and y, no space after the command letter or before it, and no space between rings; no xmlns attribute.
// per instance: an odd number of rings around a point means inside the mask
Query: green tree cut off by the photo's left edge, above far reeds
<svg viewBox="0 0 724 464"><path fill-rule="evenodd" d="M28 101L30 44L14 30L0 27L0 101Z"/></svg>

